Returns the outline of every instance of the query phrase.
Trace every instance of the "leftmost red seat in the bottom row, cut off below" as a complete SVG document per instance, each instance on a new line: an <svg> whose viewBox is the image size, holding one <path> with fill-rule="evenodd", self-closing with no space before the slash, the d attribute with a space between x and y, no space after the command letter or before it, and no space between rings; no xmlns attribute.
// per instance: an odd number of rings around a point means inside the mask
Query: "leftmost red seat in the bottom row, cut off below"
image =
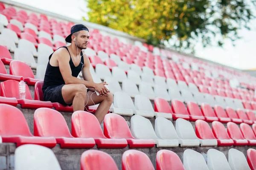
<svg viewBox="0 0 256 170"><path fill-rule="evenodd" d="M84 151L81 155L80 167L81 170L118 170L113 158L101 150Z"/></svg>

